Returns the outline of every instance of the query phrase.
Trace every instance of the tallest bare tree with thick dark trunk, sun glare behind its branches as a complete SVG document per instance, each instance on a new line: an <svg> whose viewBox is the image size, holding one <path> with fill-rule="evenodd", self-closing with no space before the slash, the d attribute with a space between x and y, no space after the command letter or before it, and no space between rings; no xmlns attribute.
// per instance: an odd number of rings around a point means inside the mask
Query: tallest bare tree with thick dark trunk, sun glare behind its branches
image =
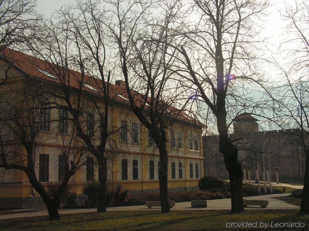
<svg viewBox="0 0 309 231"><path fill-rule="evenodd" d="M267 6L267 1L195 0L191 14L198 17L198 23L179 31L186 42L174 45L183 56L183 72L179 73L184 87L197 89L215 117L219 150L230 177L231 212L235 213L243 211L242 168L238 149L229 138L229 120L244 108L256 108L249 86L264 83L256 51L263 42L258 39L258 19Z"/></svg>

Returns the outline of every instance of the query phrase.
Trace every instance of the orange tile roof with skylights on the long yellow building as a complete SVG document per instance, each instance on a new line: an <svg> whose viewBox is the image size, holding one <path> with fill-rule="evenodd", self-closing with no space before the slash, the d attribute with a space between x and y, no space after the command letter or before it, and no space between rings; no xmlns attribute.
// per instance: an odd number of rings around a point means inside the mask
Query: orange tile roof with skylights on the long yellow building
<svg viewBox="0 0 309 231"><path fill-rule="evenodd" d="M96 94L98 96L103 96L103 83L99 78L94 78L86 74L82 75L80 72L74 71L72 69L63 68L60 65L55 65L53 63L25 54L23 52L12 50L10 48L3 49L0 55L5 57L5 59L3 58L4 60L10 62L15 68L19 69L24 74L37 79L47 80L62 85L64 84L74 89L79 89L81 80L83 78L83 91ZM44 74L44 72L47 73ZM141 98L143 99L143 102L144 95L132 90L132 96L136 105L141 106ZM109 97L114 101L129 105L129 101L126 100L128 99L127 91L122 86L110 84ZM150 97L147 97L147 101L150 102ZM145 105L145 109L148 109L147 105ZM197 119L188 116L186 113L173 106L167 107L166 114L172 118L177 118L187 122L195 123L197 125L205 126Z"/></svg>

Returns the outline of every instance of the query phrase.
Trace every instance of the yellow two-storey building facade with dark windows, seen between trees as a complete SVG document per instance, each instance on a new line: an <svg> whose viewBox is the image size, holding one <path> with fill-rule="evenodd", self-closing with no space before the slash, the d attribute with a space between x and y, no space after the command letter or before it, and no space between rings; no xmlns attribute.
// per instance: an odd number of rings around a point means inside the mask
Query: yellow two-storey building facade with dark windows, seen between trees
<svg viewBox="0 0 309 231"><path fill-rule="evenodd" d="M16 92L16 95L22 93L29 88L29 83L42 89L57 89L55 77L50 76L48 70L41 70L34 66L38 63L38 59L36 62L27 62L33 60L34 57L13 52L13 57L18 55L19 61L10 64L9 78L6 84L1 86L2 97L10 94L11 91ZM40 60L39 62L44 61ZM0 78L3 79L9 64L2 60L0 65L2 74ZM121 81L116 82L117 85L119 83ZM115 86L113 85L112 89L117 89ZM85 85L84 91L91 91L92 88ZM117 101L115 98L109 111L109 126L118 132L112 134L112 138L107 144L108 180L120 182L124 188L132 192L159 190L159 152L149 138L147 129L141 125L129 105L124 103L125 96L116 95L122 100ZM96 124L98 118L87 95L85 94L84 97L84 109L87 112L85 113L85 126L87 126L87 116L92 115L93 142L96 143L98 142L95 136L98 130ZM97 102L104 108L103 100L100 97L97 97ZM70 121L66 124L66 133L60 132L63 127L60 128L59 119L63 114L56 106L59 104L61 105L61 100L55 99L53 104L52 99L49 99L49 114L46 115L49 118L48 129L45 127L39 132L36 142L34 159L36 175L44 186L61 180L60 155L64 149L70 146L74 152L77 152L81 145L78 138L72 137L74 136L73 125L70 124ZM179 118L166 129L168 136L168 188L170 191L197 189L198 180L203 177L202 128L200 123ZM9 140L5 144L6 150L14 149L21 154L25 152L23 146L17 141ZM78 195L82 194L83 187L89 181L96 180L98 177L95 161L91 158L88 155L85 158L85 164L70 179L69 184ZM74 160L72 159L72 161ZM39 202L39 206L44 206L23 171L0 168L0 176L2 177L0 179L0 208L35 207L33 194Z"/></svg>

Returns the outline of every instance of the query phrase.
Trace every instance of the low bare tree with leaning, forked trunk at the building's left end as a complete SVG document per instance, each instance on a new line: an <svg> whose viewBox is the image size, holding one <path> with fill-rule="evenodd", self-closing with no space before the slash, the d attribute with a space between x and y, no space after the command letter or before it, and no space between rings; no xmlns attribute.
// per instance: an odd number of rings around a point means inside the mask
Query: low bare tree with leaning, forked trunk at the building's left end
<svg viewBox="0 0 309 231"><path fill-rule="evenodd" d="M50 113L52 109L59 109L59 104L50 101L52 98L44 92L37 80L25 77L19 81L22 81L22 87L18 87L14 81L12 83L7 81L0 89L2 96L0 168L17 169L26 173L30 184L46 204L50 219L59 220L57 204L70 178L84 164L83 148L76 149L78 140L75 131L70 125L68 128L66 123L66 129L70 129L70 135L65 138L61 136L61 140L58 140L62 142L60 153L65 165L63 175L61 179L59 178L61 183L53 194L48 192L41 181L48 181L49 173L47 171L41 176L42 172L40 172L40 179L37 178L39 156L36 154L42 143L44 145L44 142L50 138L50 134L43 130L47 127L49 129L51 122L61 123L61 120L50 120L49 117L45 117L46 120L42 122L43 114Z"/></svg>

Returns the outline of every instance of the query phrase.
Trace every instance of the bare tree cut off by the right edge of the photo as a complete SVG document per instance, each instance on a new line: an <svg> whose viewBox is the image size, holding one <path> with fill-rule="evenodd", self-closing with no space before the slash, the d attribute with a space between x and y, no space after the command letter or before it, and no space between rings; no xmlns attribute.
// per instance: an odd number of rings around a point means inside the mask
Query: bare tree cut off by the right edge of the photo
<svg viewBox="0 0 309 231"><path fill-rule="evenodd" d="M285 83L277 90L277 112L285 123L296 124L299 131L296 135L299 146L305 154L304 188L300 211L309 213L309 117L308 117L308 23L309 5L304 1L295 1L286 5L281 16L288 22L286 42L288 48L283 51L289 57L286 67L279 66Z"/></svg>

